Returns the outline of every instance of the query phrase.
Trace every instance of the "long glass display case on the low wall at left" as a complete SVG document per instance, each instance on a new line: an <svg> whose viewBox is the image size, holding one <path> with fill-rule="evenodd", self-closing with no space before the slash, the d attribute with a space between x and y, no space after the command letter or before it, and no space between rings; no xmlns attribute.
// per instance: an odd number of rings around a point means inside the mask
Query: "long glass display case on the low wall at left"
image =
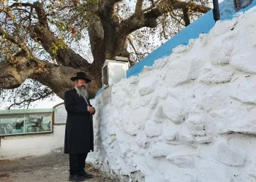
<svg viewBox="0 0 256 182"><path fill-rule="evenodd" d="M52 132L52 112L0 114L0 136Z"/></svg>

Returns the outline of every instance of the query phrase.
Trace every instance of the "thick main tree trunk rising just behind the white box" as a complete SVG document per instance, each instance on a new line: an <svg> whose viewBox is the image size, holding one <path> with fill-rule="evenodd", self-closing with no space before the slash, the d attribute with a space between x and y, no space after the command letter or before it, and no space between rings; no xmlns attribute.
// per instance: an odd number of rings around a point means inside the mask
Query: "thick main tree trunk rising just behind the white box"
<svg viewBox="0 0 256 182"><path fill-rule="evenodd" d="M102 66L105 60L113 60L115 56L129 58L126 47L127 35L120 33L119 24L112 21L102 21L97 15L90 15L89 37L94 62L89 66L91 73L98 73L102 78Z"/></svg>

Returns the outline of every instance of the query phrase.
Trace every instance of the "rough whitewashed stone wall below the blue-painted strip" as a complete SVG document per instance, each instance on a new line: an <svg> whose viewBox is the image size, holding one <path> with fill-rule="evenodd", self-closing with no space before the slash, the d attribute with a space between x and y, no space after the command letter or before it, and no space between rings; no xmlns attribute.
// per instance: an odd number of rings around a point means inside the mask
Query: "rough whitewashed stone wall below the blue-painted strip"
<svg viewBox="0 0 256 182"><path fill-rule="evenodd" d="M95 98L89 161L121 181L256 181L255 11Z"/></svg>

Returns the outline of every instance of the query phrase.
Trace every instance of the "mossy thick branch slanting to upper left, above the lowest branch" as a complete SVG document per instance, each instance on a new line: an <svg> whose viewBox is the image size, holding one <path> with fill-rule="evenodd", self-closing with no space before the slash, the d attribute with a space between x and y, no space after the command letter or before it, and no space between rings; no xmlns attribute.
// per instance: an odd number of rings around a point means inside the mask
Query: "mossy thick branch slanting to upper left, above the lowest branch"
<svg viewBox="0 0 256 182"><path fill-rule="evenodd" d="M15 3L12 4L11 7L31 7L31 12L33 8L35 9L39 23L29 27L30 36L34 41L41 44L42 47L50 53L53 59L56 59L59 65L84 69L90 66L87 60L69 49L63 39L58 39L58 37L54 36L54 33L50 31L45 9L39 1L34 2L34 4ZM31 15L31 12L29 15Z"/></svg>

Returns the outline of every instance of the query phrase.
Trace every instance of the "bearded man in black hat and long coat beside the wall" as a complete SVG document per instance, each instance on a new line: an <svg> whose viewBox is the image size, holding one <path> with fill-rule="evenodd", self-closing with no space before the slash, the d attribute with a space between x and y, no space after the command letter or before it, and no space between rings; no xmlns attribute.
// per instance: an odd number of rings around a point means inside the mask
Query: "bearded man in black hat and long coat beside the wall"
<svg viewBox="0 0 256 182"><path fill-rule="evenodd" d="M71 80L75 82L75 89L68 90L64 96L67 110L64 153L69 154L69 181L84 181L92 177L84 167L87 154L94 149L92 114L95 110L86 90L91 82L86 73L78 72Z"/></svg>

